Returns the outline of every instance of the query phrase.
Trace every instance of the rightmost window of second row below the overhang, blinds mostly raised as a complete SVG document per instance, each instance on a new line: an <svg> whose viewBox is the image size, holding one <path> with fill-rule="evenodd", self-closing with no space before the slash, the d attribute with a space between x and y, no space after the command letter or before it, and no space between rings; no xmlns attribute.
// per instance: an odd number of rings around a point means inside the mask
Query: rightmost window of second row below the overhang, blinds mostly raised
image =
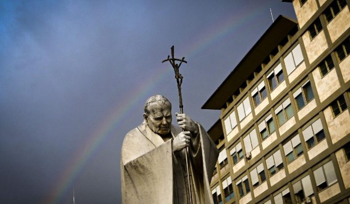
<svg viewBox="0 0 350 204"><path fill-rule="evenodd" d="M303 108L308 102L313 100L314 93L311 88L310 81L306 82L300 88L298 88L294 93L293 97L297 103L297 109L300 110Z"/></svg>

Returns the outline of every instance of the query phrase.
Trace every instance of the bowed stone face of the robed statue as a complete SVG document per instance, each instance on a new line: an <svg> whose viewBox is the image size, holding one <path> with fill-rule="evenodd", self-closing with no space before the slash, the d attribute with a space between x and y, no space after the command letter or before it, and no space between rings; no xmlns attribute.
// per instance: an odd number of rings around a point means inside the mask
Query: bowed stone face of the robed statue
<svg viewBox="0 0 350 204"><path fill-rule="evenodd" d="M168 134L172 122L171 106L168 103L154 102L149 111L149 114L143 114L148 127L160 136Z"/></svg>

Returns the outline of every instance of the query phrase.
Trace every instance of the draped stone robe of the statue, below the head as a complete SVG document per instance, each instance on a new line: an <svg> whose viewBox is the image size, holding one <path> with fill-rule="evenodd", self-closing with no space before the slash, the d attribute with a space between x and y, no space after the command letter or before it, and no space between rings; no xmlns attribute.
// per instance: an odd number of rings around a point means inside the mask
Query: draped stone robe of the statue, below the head
<svg viewBox="0 0 350 204"><path fill-rule="evenodd" d="M218 150L204 128L189 148L193 204L211 204L211 176ZM172 125L173 139L181 132ZM123 204L189 204L185 149L173 153L172 140L164 142L143 122L124 138L121 155Z"/></svg>

